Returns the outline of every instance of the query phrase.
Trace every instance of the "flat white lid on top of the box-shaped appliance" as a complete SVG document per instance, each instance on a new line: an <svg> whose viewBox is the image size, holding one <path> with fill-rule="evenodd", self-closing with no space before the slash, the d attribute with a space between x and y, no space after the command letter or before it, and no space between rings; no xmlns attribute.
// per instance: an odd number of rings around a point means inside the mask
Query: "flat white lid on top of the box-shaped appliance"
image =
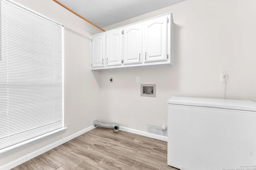
<svg viewBox="0 0 256 170"><path fill-rule="evenodd" d="M168 100L168 104L256 111L256 102L251 102L249 100L172 96Z"/></svg>

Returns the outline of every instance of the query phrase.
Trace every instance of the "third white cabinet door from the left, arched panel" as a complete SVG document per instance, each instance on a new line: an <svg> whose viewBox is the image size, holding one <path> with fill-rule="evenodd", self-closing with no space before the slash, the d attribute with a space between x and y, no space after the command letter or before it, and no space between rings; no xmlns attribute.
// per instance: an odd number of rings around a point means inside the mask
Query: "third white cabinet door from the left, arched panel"
<svg viewBox="0 0 256 170"><path fill-rule="evenodd" d="M124 64L142 63L142 24L124 28Z"/></svg>

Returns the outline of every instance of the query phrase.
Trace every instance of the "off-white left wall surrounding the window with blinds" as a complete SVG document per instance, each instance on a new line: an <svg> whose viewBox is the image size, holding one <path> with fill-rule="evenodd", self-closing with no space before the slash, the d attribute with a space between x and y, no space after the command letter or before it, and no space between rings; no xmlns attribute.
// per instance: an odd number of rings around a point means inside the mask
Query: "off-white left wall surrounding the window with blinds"
<svg viewBox="0 0 256 170"><path fill-rule="evenodd" d="M15 2L64 25L64 124L68 129L1 155L0 167L91 126L100 113L96 102L100 73L90 71L90 35L100 31L52 0Z"/></svg>

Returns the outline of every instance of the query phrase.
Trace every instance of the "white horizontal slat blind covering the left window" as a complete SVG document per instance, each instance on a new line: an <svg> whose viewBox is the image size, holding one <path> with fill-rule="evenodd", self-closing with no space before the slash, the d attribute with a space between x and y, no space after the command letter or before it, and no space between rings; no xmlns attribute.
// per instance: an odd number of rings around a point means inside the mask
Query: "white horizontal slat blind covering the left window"
<svg viewBox="0 0 256 170"><path fill-rule="evenodd" d="M0 150L63 127L63 26L0 1Z"/></svg>

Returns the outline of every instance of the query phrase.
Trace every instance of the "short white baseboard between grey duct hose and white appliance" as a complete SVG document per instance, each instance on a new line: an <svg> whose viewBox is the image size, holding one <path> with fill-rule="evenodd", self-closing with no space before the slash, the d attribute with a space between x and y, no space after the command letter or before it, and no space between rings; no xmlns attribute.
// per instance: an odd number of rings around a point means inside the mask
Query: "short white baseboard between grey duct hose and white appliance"
<svg viewBox="0 0 256 170"><path fill-rule="evenodd" d="M154 138L154 139L158 139L158 140L161 140L161 141L166 141L167 142L167 139L168 139L168 137L166 137L166 136L161 136L161 135L156 135L156 134L153 134L153 133L139 131L139 130L131 129L131 128L128 128L128 127L120 126L119 129L121 131L126 131L126 132L134 133L134 134L137 134L137 135L142 135L142 136Z"/></svg>

